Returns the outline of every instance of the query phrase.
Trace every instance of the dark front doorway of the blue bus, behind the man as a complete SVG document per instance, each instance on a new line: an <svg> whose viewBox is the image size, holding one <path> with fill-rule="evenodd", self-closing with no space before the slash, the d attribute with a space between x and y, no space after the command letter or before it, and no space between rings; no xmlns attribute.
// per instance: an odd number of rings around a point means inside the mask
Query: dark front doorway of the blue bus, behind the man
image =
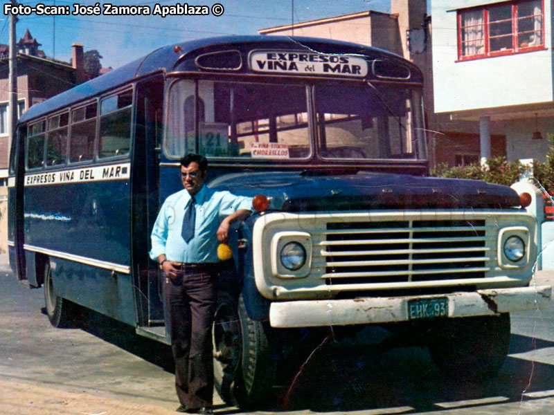
<svg viewBox="0 0 554 415"><path fill-rule="evenodd" d="M150 261L150 232L159 209L159 163L163 121L163 77L137 85L133 157L132 246L137 332L166 338L163 286L159 269Z"/></svg>

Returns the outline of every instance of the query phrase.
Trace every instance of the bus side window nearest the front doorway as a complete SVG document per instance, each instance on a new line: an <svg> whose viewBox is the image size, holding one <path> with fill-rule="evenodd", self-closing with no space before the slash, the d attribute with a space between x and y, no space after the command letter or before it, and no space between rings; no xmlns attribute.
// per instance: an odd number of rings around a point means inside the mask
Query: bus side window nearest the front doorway
<svg viewBox="0 0 554 415"><path fill-rule="evenodd" d="M99 158L129 154L132 103L132 89L105 98L100 103Z"/></svg>

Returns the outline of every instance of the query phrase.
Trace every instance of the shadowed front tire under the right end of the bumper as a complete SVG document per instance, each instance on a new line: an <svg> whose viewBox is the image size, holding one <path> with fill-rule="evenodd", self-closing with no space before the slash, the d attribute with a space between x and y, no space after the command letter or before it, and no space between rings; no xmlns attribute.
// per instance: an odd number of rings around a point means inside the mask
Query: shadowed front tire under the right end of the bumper
<svg viewBox="0 0 554 415"><path fill-rule="evenodd" d="M443 320L431 331L429 353L452 380L483 382L497 376L510 345L510 315Z"/></svg>

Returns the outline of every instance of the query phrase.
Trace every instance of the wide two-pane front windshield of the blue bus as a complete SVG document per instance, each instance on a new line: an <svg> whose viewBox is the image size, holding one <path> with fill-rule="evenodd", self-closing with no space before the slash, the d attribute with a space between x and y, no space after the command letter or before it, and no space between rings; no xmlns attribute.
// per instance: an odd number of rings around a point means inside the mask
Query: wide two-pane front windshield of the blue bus
<svg viewBox="0 0 554 415"><path fill-rule="evenodd" d="M293 160L317 151L328 159L417 159L425 158L422 142L421 94L405 86L178 80L170 88L164 148L170 158L199 151Z"/></svg>

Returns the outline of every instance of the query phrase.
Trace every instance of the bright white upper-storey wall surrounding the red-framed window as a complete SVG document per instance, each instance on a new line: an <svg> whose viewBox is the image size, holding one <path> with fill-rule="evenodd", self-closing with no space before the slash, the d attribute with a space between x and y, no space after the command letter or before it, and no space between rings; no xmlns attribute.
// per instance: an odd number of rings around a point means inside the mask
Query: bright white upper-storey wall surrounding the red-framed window
<svg viewBox="0 0 554 415"><path fill-rule="evenodd" d="M489 0L431 0L436 112L463 111L553 100L551 0L544 0L546 50L458 60L456 10Z"/></svg>

